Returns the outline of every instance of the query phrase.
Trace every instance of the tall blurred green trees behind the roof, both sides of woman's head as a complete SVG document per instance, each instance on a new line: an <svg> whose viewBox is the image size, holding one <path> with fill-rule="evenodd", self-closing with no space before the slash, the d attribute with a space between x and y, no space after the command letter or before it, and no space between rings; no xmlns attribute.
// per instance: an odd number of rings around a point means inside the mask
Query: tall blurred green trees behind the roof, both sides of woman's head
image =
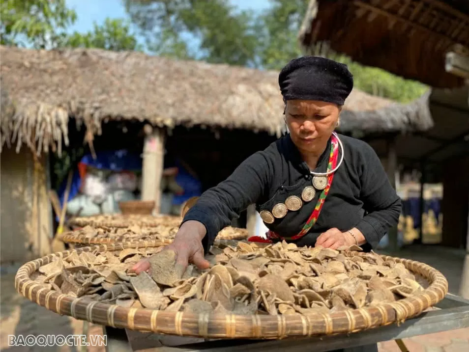
<svg viewBox="0 0 469 352"><path fill-rule="evenodd" d="M123 2L154 54L272 70L302 55L297 35L307 0L270 0L261 13L236 11L226 0ZM355 87L367 93L409 102L427 90L419 82L362 66L345 56L331 58L346 63Z"/></svg>

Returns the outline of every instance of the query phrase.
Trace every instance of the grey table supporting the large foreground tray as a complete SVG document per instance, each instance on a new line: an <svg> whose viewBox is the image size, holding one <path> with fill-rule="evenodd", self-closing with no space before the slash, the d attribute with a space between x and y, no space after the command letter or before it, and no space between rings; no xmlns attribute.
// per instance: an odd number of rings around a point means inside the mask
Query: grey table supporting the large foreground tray
<svg viewBox="0 0 469 352"><path fill-rule="evenodd" d="M426 335L440 331L469 327L469 300L446 295L437 309L422 313L401 325L392 324L361 331L327 337L290 338L284 340L240 340L180 337L142 333L128 329L103 327L107 336L106 352L282 352L367 351L369 345Z"/></svg>

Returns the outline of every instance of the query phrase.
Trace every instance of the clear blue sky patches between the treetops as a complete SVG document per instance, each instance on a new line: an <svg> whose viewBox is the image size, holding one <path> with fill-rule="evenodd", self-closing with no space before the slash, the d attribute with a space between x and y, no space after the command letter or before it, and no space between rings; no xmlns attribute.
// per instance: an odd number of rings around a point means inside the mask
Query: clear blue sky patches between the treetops
<svg viewBox="0 0 469 352"><path fill-rule="evenodd" d="M230 0L239 9L262 10L269 6L268 0ZM85 32L93 22L102 24L106 17L126 18L121 0L66 0L67 6L77 12L77 21L70 31Z"/></svg>

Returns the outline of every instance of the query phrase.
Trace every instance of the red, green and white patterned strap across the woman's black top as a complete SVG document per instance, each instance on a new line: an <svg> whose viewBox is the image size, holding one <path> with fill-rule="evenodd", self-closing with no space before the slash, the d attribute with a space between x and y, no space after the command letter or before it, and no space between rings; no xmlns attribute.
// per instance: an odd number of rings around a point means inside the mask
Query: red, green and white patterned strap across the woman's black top
<svg viewBox="0 0 469 352"><path fill-rule="evenodd" d="M331 148L330 148L330 155L329 155L329 162L327 164L327 172L335 168L337 165L337 159L339 156L339 142L337 140L337 137L335 135L332 135L331 137ZM332 184L332 180L334 178L335 172L329 174L327 176L327 185L326 187L322 190L321 195L319 196L318 203L316 204L316 207L314 208L313 213L311 213L311 216L308 218L308 221L306 221L305 225L303 226L303 229L296 235L288 238L284 238L277 233L273 231L267 231L266 235L267 238L264 239L259 236L252 236L248 238L248 241L250 242L264 242L264 243L272 243L272 242L277 242L277 241L282 241L282 240L297 240L304 235L308 233L308 231L311 229L311 227L314 226L316 223L316 220L318 219L319 215L321 214L322 206L324 205L325 198L327 194L329 193L330 186Z"/></svg>

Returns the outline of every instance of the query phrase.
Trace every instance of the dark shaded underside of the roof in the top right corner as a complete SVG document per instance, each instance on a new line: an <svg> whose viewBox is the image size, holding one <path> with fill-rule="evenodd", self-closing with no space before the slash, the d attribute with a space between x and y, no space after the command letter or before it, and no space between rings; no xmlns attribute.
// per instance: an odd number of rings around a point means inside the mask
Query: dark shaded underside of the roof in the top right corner
<svg viewBox="0 0 469 352"><path fill-rule="evenodd" d="M455 45L469 47L468 0L310 0L299 40L433 87L464 80L444 69Z"/></svg>

